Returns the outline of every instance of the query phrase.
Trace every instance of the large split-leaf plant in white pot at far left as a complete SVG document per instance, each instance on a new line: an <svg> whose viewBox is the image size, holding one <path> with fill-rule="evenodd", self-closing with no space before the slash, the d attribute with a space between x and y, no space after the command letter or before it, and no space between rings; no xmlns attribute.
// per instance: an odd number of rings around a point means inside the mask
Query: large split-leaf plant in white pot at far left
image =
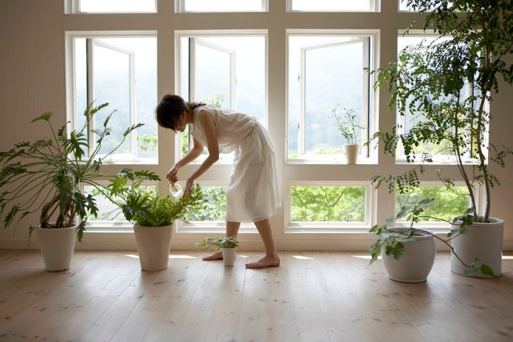
<svg viewBox="0 0 513 342"><path fill-rule="evenodd" d="M49 133L34 142L19 142L5 152L0 152L0 217L4 227L19 224L29 214L39 213L37 224L28 227L28 238L35 230L43 259L48 271L69 269L76 240L80 242L86 230L88 214L96 215L98 207L92 195L84 196L81 185L98 190L103 186L96 180L103 160L112 155L125 138L140 127L133 125L110 152L100 152L104 138L110 134L108 124L113 113L103 125L92 130L96 113L108 106L88 105L83 115L83 126L68 132L67 125L53 128L52 112L46 112L32 123L43 122ZM88 145L88 134L95 135L95 145Z"/></svg>

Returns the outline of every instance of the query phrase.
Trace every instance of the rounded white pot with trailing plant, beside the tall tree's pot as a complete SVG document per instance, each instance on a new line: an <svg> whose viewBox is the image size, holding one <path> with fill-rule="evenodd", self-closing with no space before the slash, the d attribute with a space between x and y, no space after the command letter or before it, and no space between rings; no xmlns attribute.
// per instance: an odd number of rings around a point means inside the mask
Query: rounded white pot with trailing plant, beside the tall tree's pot
<svg viewBox="0 0 513 342"><path fill-rule="evenodd" d="M408 228L389 228L392 232L408 230ZM415 241L405 243L405 252L400 260L393 255L381 251L381 258L388 278L404 283L420 283L427 280L432 265L435 263L435 237L422 231L412 236Z"/></svg>

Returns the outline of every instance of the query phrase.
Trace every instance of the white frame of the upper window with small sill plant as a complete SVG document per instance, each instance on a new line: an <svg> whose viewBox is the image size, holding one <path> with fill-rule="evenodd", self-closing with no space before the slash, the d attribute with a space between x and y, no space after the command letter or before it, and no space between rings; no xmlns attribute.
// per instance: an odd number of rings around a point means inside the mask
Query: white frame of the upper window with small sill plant
<svg viewBox="0 0 513 342"><path fill-rule="evenodd" d="M298 134L298 157L289 157L289 38L293 36L350 36L355 38L361 38L363 41L366 38L371 38L371 41L368 43L368 53L366 56L369 56L368 66L370 70L375 70L379 64L379 56L378 56L378 46L379 46L379 38L380 32L378 30L296 30L289 29L286 30L286 79L287 79L287 90L286 90L286 163L288 164L318 164L318 165L340 165L345 164L346 159L344 157L338 157L338 155L330 156L330 155L311 155L301 153L301 149L304 151L304 120L305 120L305 109L304 109L304 76L301 75L301 95L300 95L300 113L299 113L299 134ZM338 43L340 44L340 43ZM338 45L336 44L336 45ZM318 45L320 46L320 44ZM304 62L303 56L301 55L301 73L304 73ZM370 75L363 82L363 87L365 88L368 85L368 89L364 89L363 91L363 101L367 100L366 105L363 105L362 118L364 124L367 127L366 131L362 132L362 136L372 137L372 135L378 130L378 92L373 90L372 85L375 83L375 75ZM366 110L368 110L366 112ZM365 118L364 118L365 117ZM371 118L371 120L369 120ZM301 125L301 121L303 125ZM370 121L370 122L369 122ZM371 143L369 147L366 147L368 150L361 151L358 155L358 164L375 164L377 163L377 155L375 152L375 143Z"/></svg>

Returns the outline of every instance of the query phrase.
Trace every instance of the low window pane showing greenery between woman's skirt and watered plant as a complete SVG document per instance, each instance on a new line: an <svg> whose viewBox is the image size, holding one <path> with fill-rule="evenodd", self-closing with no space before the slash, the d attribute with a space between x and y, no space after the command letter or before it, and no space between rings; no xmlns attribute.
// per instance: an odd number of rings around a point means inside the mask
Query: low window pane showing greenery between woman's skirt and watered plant
<svg viewBox="0 0 513 342"><path fill-rule="evenodd" d="M226 221L226 188L202 187L206 207L201 212L188 211L186 220L189 222L225 222Z"/></svg>

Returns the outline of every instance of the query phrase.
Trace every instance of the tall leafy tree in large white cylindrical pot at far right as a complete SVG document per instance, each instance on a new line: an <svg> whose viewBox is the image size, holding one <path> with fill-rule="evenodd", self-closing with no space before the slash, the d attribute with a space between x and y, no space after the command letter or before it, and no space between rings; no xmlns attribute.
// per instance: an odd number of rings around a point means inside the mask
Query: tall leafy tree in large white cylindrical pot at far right
<svg viewBox="0 0 513 342"><path fill-rule="evenodd" d="M489 162L504 167L504 159L512 147L499 148L489 144L487 136L492 115L489 103L499 91L499 78L509 86L513 83L513 3L486 0L408 0L408 6L418 11L405 34L418 21L424 31L432 29L440 36L430 43L408 46L386 68L378 70L375 86L388 88L390 110L399 115L411 115L415 121L408 130L395 125L390 132L375 134L384 145L385 153L395 157L403 148L407 162L418 163L412 170L398 175L377 175L375 182L389 182L403 189L420 185L423 165L435 161L435 155L445 152L457 165L467 187L472 211L472 224L454 225L467 234L457 234L452 247L465 263L481 258L494 274L501 273L502 235L504 221L490 217L491 189L499 180L491 172ZM500 115L500 113L494 113ZM426 144L435 146L425 152ZM455 180L440 180L450 189ZM484 207L477 205L475 185L484 188ZM454 224L459 224L454 222ZM465 267L454 258L451 269L464 274ZM478 273L474 276L482 276Z"/></svg>

